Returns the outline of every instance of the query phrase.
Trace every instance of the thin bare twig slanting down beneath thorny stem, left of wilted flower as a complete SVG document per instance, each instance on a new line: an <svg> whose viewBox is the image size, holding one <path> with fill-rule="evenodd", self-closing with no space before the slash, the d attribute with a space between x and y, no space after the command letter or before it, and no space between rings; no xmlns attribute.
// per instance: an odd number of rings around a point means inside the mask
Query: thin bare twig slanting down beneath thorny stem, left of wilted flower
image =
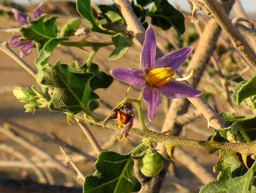
<svg viewBox="0 0 256 193"><path fill-rule="evenodd" d="M93 149L99 154L103 149L101 148L99 142L97 139L94 137L92 131L89 129L89 127L81 120L75 117L76 122L78 123L79 127L82 129L84 132L84 135L87 137L89 142L91 143Z"/></svg>

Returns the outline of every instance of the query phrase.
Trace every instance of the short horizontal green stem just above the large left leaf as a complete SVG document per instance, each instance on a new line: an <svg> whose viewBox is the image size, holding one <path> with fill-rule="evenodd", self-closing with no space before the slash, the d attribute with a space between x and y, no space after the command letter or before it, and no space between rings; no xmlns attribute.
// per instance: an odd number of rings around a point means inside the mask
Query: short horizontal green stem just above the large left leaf
<svg viewBox="0 0 256 193"><path fill-rule="evenodd" d="M62 46L69 46L69 47L78 47L78 48L83 48L83 47L94 47L94 48L101 48L105 46L110 46L112 45L112 41L106 41L106 42L90 42L86 41L85 39L80 40L80 41L63 41Z"/></svg>

